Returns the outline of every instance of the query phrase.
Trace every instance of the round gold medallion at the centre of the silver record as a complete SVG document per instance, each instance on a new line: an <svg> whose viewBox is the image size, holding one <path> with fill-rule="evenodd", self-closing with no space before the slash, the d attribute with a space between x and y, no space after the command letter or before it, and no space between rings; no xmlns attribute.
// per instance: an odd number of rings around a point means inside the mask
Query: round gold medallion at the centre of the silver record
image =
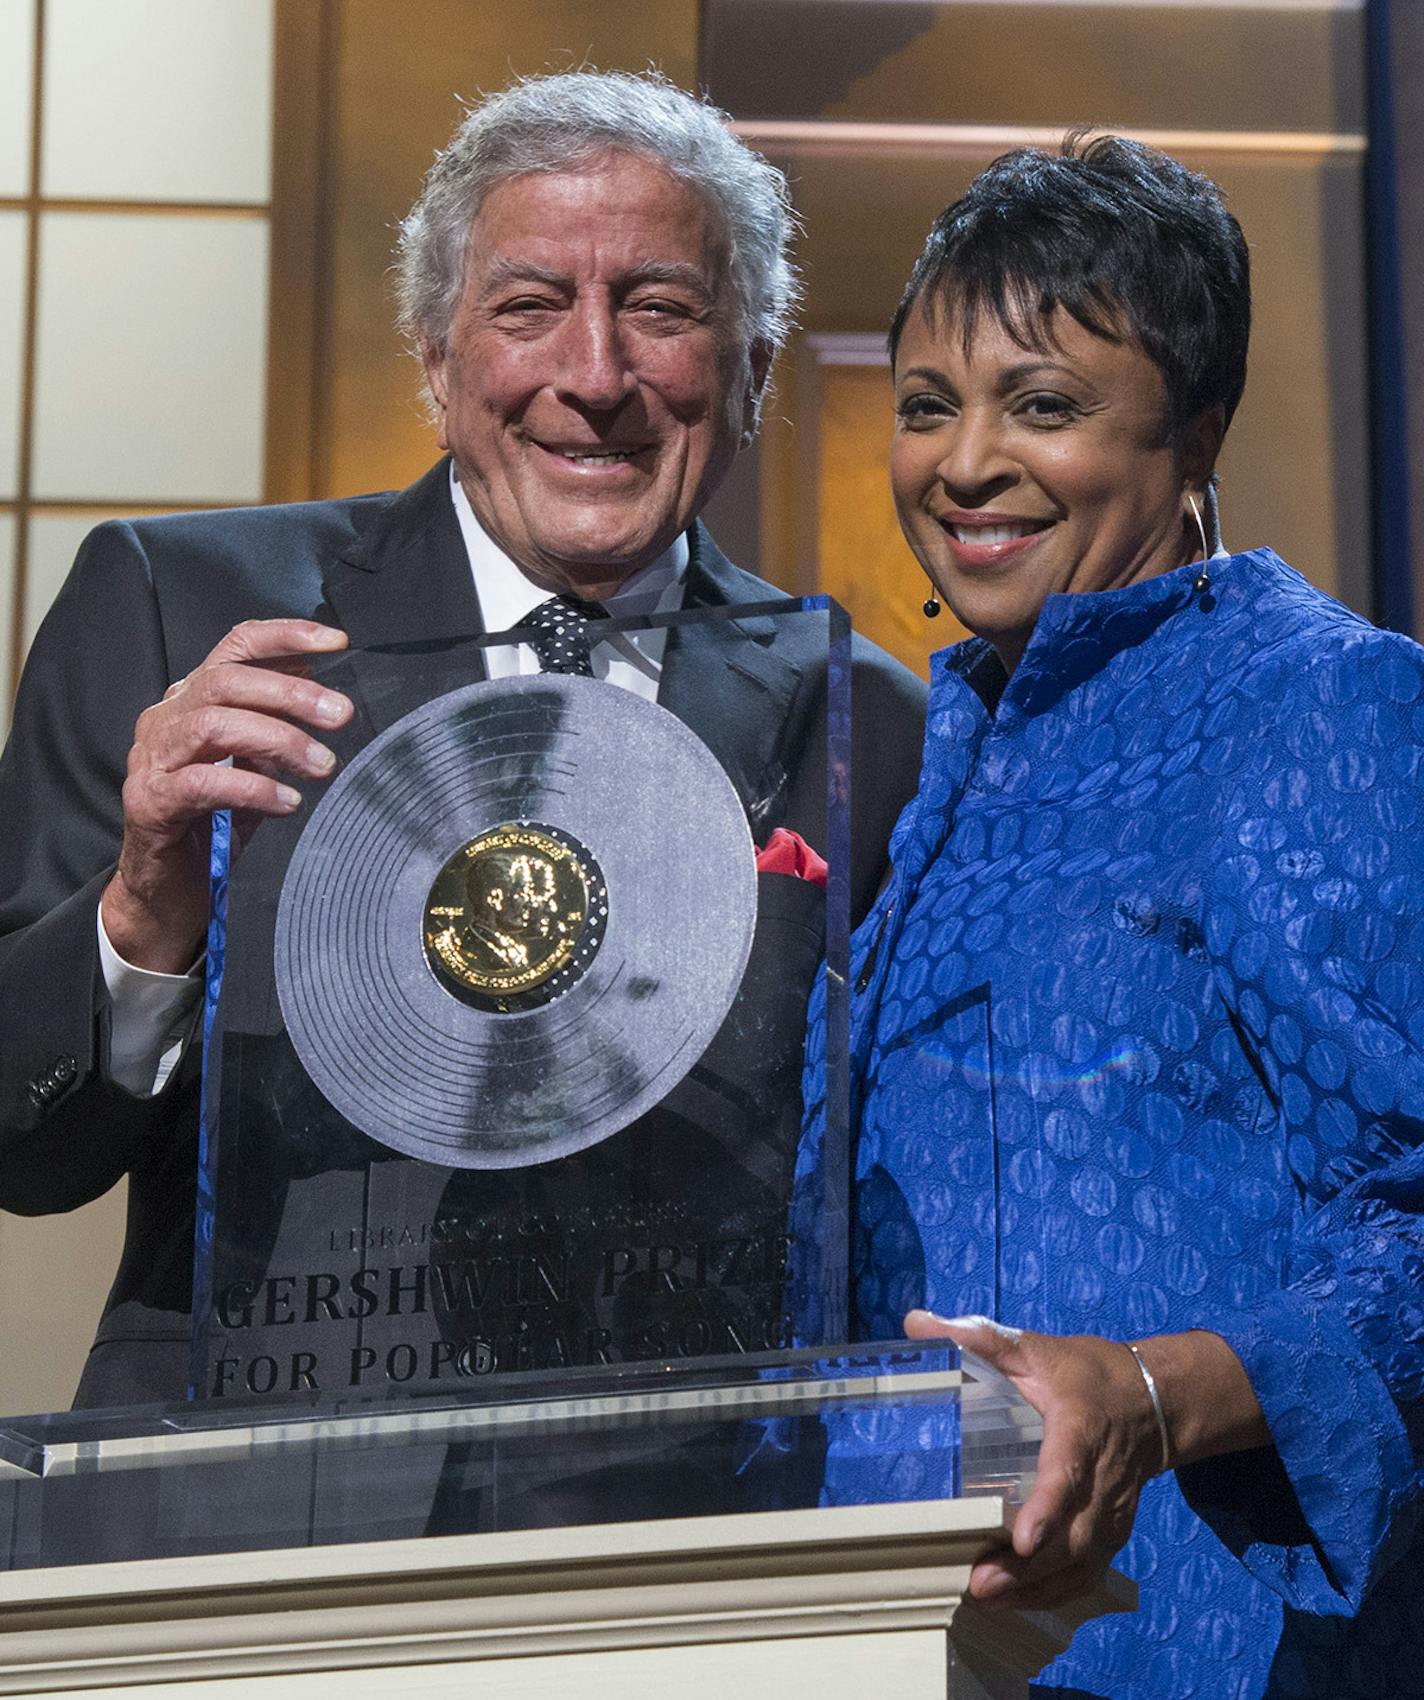
<svg viewBox="0 0 1424 1700"><path fill-rule="evenodd" d="M564 969L588 921L581 858L523 821L450 857L425 899L425 957L438 979L488 998L532 991Z"/></svg>

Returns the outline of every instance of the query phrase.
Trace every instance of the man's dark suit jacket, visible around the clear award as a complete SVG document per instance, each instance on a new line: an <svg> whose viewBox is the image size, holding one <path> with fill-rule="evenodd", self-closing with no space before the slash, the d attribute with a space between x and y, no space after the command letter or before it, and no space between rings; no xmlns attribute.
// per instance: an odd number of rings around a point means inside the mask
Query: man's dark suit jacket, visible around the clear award
<svg viewBox="0 0 1424 1700"><path fill-rule="evenodd" d="M693 529L688 607L775 595ZM66 1210L129 1176L82 1404L180 1397L190 1304L199 1047L151 1098L105 1073L95 908L122 835L126 755L139 712L231 626L275 615L340 624L353 646L477 634L449 462L399 493L99 527L34 641L0 756L0 1207ZM758 838L777 824L822 838L824 784L809 775L824 765L805 743L824 685L824 656L797 653L770 620L670 636L659 700L722 760ZM924 687L867 644L853 692L858 915L916 787ZM428 695L413 677L404 707Z"/></svg>

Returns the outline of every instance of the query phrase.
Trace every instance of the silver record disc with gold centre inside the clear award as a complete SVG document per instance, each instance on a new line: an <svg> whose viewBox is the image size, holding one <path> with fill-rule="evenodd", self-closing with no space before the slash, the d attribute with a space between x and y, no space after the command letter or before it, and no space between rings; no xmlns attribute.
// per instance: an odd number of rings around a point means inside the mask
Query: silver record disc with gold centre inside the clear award
<svg viewBox="0 0 1424 1700"><path fill-rule="evenodd" d="M362 1132L518 1168L671 1091L736 996L754 918L741 802L681 721L591 678L476 683L387 728L313 811L277 994Z"/></svg>

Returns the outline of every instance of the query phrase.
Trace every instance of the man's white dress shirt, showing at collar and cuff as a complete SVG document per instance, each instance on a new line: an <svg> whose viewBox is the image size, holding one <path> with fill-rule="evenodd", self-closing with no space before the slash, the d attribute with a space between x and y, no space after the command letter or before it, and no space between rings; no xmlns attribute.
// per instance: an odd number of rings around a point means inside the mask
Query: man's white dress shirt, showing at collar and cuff
<svg viewBox="0 0 1424 1700"><path fill-rule="evenodd" d="M501 632L522 626L551 593L527 578L493 542L474 517L454 468L450 498L461 522L484 629ZM656 561L605 597L603 607L615 619L632 614L670 614L681 605L687 563L688 541L680 536ZM663 677L666 643L666 626L596 638L590 651L593 677L654 702ZM484 663L491 678L539 672L539 658L528 644L494 644L484 651ZM100 911L99 964L110 1006L109 1078L138 1096L161 1091L197 1025L202 960L187 974L153 974L150 969L134 967L109 942Z"/></svg>

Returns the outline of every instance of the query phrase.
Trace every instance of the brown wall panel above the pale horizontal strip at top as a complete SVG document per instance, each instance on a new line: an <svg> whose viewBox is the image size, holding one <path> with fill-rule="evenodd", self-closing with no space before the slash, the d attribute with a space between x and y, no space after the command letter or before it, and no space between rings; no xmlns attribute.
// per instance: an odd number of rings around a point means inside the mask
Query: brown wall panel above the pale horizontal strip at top
<svg viewBox="0 0 1424 1700"><path fill-rule="evenodd" d="M702 75L749 119L1358 131L1359 10L1359 0L704 0Z"/></svg>

